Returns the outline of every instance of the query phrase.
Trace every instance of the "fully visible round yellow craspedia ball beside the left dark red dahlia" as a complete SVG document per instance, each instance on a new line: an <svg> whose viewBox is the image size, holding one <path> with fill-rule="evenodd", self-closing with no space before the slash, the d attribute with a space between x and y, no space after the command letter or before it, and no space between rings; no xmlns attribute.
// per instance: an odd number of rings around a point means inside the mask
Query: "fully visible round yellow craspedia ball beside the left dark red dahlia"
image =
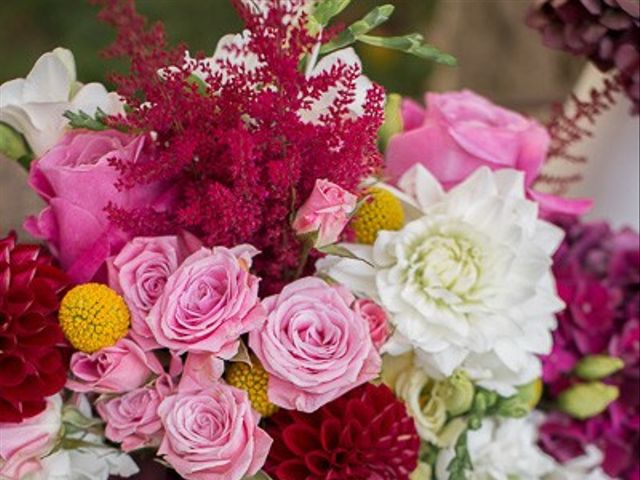
<svg viewBox="0 0 640 480"><path fill-rule="evenodd" d="M87 353L110 347L129 331L127 304L100 283L72 288L62 299L58 318L71 345Z"/></svg>

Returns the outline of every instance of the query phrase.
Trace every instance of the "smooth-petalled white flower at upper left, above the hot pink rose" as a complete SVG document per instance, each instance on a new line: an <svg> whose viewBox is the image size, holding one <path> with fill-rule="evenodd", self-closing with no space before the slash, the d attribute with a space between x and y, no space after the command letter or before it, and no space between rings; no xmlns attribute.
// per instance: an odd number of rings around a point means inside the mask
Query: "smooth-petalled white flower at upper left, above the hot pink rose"
<svg viewBox="0 0 640 480"><path fill-rule="evenodd" d="M0 85L0 122L22 133L38 156L64 134L65 111L94 115L98 108L107 114L122 112L117 94L108 93L102 84L76 82L73 54L64 48L42 55L27 78Z"/></svg>

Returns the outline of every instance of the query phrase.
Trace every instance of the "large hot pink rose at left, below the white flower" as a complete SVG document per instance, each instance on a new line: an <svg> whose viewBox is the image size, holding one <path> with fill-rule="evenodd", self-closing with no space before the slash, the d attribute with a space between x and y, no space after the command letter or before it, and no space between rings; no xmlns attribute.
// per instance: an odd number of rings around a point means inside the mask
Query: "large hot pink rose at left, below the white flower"
<svg viewBox="0 0 640 480"><path fill-rule="evenodd" d="M144 162L144 144L145 137L114 130L74 131L31 166L29 183L48 205L27 219L25 229L48 243L78 283L103 274L99 270L106 258L127 240L108 219L109 203L127 209L165 206L159 184L115 187L119 173L109 160Z"/></svg>

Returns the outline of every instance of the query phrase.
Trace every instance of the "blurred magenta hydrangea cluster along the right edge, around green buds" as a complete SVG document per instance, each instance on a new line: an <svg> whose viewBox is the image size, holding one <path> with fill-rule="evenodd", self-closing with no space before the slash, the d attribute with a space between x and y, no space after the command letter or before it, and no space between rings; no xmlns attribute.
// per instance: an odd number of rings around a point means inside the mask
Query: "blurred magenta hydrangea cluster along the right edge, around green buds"
<svg viewBox="0 0 640 480"><path fill-rule="evenodd" d="M541 428L542 445L560 460L595 443L612 477L640 478L640 237L605 223L558 218L566 240L554 273L567 309L558 316L552 353L544 359L544 382L555 397L572 383L571 371L586 355L608 354L624 369L607 379L620 397L584 422L552 414Z"/></svg>

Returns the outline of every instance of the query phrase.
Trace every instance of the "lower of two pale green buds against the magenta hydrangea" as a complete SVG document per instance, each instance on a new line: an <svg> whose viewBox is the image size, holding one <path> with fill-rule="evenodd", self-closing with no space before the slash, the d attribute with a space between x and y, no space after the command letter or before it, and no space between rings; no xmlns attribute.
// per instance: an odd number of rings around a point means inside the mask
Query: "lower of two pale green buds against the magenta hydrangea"
<svg viewBox="0 0 640 480"><path fill-rule="evenodd" d="M614 402L620 391L618 387L601 382L578 383L558 397L558 407L579 420L595 417Z"/></svg>

